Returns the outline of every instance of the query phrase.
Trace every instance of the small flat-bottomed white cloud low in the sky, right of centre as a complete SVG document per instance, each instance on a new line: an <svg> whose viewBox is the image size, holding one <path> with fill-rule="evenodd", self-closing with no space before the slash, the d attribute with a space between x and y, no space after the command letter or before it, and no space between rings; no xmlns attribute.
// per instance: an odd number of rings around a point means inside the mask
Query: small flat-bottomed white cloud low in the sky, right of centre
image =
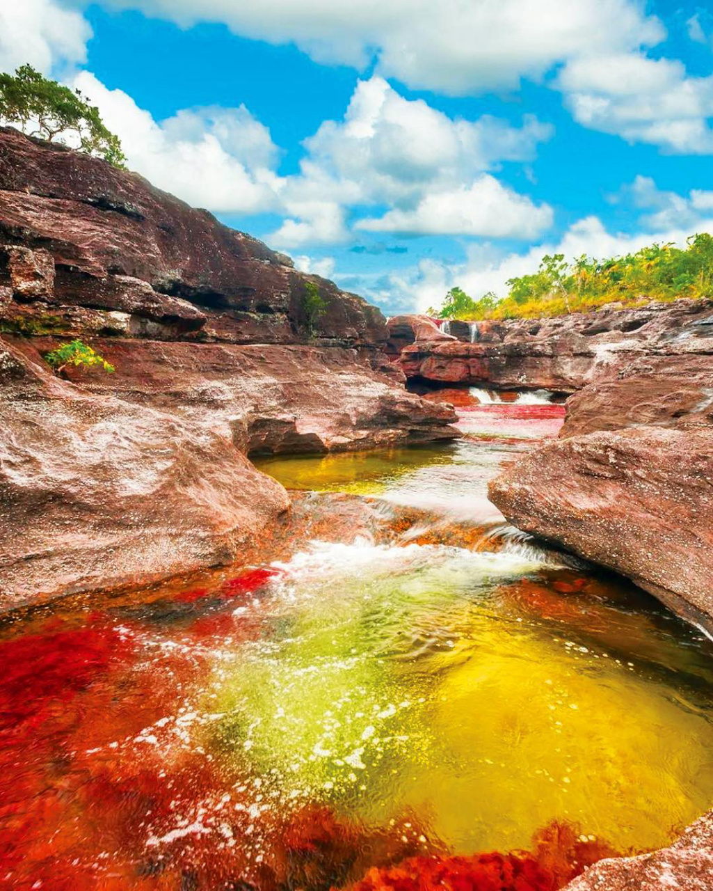
<svg viewBox="0 0 713 891"><path fill-rule="evenodd" d="M389 210L364 219L356 228L369 232L480 235L492 238L537 238L552 225L552 208L534 204L483 174L470 186L428 192L413 210Z"/></svg>

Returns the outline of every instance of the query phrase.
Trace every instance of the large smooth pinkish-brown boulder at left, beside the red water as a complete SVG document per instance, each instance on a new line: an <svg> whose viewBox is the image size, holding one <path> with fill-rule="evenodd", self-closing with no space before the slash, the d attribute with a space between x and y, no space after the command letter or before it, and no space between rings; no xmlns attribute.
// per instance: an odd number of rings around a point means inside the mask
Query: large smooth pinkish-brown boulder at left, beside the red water
<svg viewBox="0 0 713 891"><path fill-rule="evenodd" d="M0 351L0 609L234 560L288 508L229 439Z"/></svg>

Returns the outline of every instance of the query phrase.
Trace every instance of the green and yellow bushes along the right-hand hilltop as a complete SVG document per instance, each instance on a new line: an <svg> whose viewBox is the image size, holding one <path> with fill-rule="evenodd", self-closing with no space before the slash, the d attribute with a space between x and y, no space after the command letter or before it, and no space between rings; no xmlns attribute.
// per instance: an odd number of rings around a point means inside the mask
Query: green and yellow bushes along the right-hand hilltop
<svg viewBox="0 0 713 891"><path fill-rule="evenodd" d="M506 283L509 293L499 300L492 292L474 300L451 288L442 307L429 313L474 321L533 318L586 313L614 302L636 307L652 300L713 297L713 235L692 235L685 249L653 244L607 260L582 254L570 264L563 254L546 255L537 272Z"/></svg>

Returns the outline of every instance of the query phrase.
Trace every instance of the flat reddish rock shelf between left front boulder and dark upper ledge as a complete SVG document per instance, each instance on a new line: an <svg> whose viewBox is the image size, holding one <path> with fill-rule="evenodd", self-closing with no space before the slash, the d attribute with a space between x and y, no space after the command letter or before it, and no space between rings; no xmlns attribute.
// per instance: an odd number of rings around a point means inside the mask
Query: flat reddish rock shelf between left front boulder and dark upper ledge
<svg viewBox="0 0 713 891"><path fill-rule="evenodd" d="M55 339L12 339L38 364ZM220 433L248 454L344 451L452 439L453 409L424 402L355 350L94 339L111 375L69 374L87 393L119 396Z"/></svg>

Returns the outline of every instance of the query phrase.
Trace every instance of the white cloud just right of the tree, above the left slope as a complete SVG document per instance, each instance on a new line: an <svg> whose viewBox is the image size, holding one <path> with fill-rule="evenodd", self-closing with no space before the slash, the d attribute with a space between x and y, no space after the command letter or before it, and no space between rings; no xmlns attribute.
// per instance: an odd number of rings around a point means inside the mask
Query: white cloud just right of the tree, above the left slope
<svg viewBox="0 0 713 891"><path fill-rule="evenodd" d="M215 211L256 213L277 207L276 157L269 132L244 106L191 109L155 121L122 90L109 90L89 71L72 82L121 138L130 168L182 200Z"/></svg>

